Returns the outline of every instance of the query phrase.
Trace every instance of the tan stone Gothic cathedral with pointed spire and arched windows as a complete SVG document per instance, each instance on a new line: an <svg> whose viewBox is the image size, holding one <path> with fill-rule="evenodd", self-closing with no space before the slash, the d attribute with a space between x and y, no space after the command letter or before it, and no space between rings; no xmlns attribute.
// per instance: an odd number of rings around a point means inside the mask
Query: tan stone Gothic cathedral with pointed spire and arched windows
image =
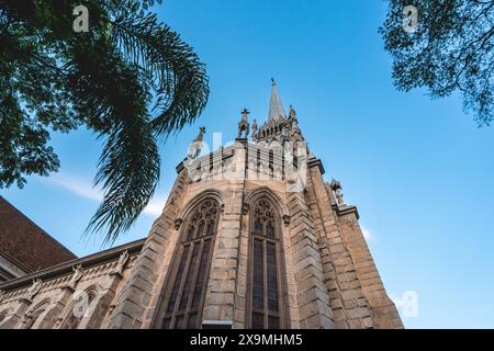
<svg viewBox="0 0 494 351"><path fill-rule="evenodd" d="M211 152L201 127L147 237L9 275L0 328L403 328L297 118L272 81L265 123Z"/></svg>

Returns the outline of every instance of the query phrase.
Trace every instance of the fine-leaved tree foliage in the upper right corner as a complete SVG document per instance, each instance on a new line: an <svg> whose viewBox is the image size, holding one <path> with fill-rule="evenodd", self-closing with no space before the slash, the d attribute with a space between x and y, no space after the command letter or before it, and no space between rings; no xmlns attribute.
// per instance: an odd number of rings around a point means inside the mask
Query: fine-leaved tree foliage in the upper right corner
<svg viewBox="0 0 494 351"><path fill-rule="evenodd" d="M403 8L418 10L418 31L403 30ZM459 91L480 126L494 116L494 1L389 0L380 29L400 90L425 87L433 98Z"/></svg>

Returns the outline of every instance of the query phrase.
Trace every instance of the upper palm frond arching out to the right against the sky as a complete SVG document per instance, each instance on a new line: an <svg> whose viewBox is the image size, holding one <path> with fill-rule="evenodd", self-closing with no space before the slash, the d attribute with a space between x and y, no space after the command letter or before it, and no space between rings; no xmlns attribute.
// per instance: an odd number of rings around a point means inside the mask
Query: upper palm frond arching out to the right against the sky
<svg viewBox="0 0 494 351"><path fill-rule="evenodd" d="M113 43L123 57L143 67L156 88L154 132L166 137L192 123L210 92L205 66L192 48L155 14L125 11L112 25Z"/></svg>

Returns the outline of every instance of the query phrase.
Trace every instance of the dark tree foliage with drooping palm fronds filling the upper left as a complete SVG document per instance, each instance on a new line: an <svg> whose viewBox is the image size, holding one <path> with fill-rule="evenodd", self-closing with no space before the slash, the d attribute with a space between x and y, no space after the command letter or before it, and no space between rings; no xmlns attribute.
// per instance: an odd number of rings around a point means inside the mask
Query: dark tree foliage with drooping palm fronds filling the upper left
<svg viewBox="0 0 494 351"><path fill-rule="evenodd" d="M72 31L81 3L87 33ZM94 182L105 195L88 230L105 241L153 196L157 139L193 122L209 97L203 64L149 12L153 4L0 0L0 188L58 170L50 131L92 129L104 141Z"/></svg>

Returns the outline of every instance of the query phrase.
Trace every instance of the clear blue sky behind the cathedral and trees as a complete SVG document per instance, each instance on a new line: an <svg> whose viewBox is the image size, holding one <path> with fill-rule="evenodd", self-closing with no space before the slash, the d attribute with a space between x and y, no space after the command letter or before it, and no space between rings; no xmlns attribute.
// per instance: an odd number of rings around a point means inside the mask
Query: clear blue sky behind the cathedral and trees
<svg viewBox="0 0 494 351"><path fill-rule="evenodd" d="M146 213L115 244L145 237L198 127L232 140L240 110L263 121L270 77L293 104L326 179L341 181L388 292L418 295L408 328L494 327L494 128L478 128L461 99L397 92L378 27L380 0L167 0L159 18L207 66L211 95L200 120L161 145L162 178ZM100 145L91 133L54 135L58 174L1 193L79 256L98 207L91 189Z"/></svg>

